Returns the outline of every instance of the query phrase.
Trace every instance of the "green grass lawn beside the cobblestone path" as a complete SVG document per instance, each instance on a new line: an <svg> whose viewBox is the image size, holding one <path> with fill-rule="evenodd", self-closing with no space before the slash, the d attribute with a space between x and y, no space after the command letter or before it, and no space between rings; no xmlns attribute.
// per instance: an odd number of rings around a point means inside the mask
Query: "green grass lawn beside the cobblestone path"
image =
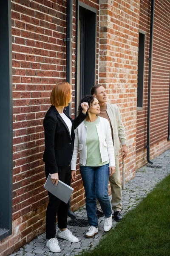
<svg viewBox="0 0 170 256"><path fill-rule="evenodd" d="M170 256L170 175L83 256Z"/></svg>

